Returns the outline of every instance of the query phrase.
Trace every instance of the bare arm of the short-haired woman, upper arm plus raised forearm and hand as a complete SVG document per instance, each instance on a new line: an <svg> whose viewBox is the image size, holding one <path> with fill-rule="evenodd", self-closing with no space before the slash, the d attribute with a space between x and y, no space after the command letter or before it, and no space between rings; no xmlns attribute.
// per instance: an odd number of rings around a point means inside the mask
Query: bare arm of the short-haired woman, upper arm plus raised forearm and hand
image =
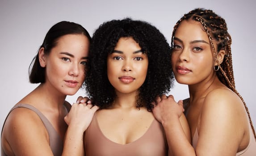
<svg viewBox="0 0 256 156"><path fill-rule="evenodd" d="M97 109L96 106L84 104L71 108L70 114L65 117L70 127L66 132L63 155L83 155L83 133ZM34 111L19 108L10 113L2 135L2 146L7 149L7 155L53 156L49 144L48 132Z"/></svg>

